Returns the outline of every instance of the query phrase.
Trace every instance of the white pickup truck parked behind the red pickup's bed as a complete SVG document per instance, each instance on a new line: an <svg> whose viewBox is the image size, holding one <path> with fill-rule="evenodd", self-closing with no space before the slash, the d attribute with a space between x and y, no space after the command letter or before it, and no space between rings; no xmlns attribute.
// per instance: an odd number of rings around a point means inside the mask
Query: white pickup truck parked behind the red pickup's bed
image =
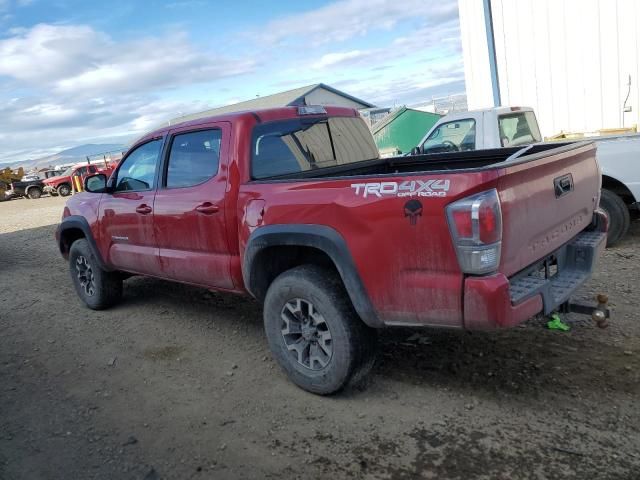
<svg viewBox="0 0 640 480"><path fill-rule="evenodd" d="M596 142L602 170L600 206L609 215L607 246L629 229L640 212L640 134L585 137ZM564 140L567 141L567 140ZM516 147L542 142L528 107L495 107L450 113L438 120L412 153L445 153Z"/></svg>

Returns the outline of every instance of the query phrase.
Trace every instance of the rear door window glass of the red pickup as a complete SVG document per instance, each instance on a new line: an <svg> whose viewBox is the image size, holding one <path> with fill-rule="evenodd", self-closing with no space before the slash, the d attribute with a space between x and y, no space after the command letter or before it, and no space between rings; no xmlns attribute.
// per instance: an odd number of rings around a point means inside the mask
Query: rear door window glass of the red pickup
<svg viewBox="0 0 640 480"><path fill-rule="evenodd" d="M222 130L201 130L173 137L167 188L190 187L206 182L218 173Z"/></svg>

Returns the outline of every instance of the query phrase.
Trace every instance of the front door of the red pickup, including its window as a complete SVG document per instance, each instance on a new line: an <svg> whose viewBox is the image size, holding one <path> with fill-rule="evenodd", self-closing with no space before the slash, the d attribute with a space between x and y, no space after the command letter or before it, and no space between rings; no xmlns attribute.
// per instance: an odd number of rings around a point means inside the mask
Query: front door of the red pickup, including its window
<svg viewBox="0 0 640 480"><path fill-rule="evenodd" d="M115 191L100 202L101 243L108 263L119 270L159 275L153 231L153 200L162 138L132 150L121 162Z"/></svg>

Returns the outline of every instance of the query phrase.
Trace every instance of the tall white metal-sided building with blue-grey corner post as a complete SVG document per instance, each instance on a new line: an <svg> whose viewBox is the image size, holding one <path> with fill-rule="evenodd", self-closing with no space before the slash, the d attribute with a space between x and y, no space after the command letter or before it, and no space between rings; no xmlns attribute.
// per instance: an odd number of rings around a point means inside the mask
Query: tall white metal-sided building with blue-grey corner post
<svg viewBox="0 0 640 480"><path fill-rule="evenodd" d="M470 109L533 107L545 136L640 124L640 1L458 4Z"/></svg>

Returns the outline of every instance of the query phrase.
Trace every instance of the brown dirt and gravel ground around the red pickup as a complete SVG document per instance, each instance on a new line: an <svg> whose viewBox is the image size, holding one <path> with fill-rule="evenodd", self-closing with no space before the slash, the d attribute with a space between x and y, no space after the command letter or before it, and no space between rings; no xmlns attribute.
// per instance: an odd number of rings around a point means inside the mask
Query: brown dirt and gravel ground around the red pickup
<svg viewBox="0 0 640 480"><path fill-rule="evenodd" d="M0 203L0 479L640 478L640 222L580 292L608 329L384 331L368 388L322 398L251 300L131 278L83 307L63 203Z"/></svg>

